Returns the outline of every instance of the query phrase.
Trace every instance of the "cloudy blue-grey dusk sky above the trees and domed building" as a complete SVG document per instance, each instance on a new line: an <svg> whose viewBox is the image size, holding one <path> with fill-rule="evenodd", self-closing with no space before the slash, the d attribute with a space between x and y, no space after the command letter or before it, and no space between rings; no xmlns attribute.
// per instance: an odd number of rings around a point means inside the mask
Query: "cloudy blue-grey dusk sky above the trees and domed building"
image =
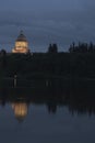
<svg viewBox="0 0 95 143"><path fill-rule="evenodd" d="M23 30L32 51L59 51L75 41L95 41L95 0L1 0L0 48L11 51ZM94 42L95 43L95 42Z"/></svg>

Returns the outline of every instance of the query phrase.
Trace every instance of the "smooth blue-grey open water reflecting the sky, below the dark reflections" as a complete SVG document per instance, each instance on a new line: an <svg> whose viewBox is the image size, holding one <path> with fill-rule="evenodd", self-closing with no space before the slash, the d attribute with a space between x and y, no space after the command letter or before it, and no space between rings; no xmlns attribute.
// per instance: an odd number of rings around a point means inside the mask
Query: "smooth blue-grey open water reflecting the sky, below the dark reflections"
<svg viewBox="0 0 95 143"><path fill-rule="evenodd" d="M95 142L95 116L73 117L66 107L49 114L46 106L35 105L29 106L23 122L15 120L13 113L11 105L0 109L0 140L3 143Z"/></svg>

